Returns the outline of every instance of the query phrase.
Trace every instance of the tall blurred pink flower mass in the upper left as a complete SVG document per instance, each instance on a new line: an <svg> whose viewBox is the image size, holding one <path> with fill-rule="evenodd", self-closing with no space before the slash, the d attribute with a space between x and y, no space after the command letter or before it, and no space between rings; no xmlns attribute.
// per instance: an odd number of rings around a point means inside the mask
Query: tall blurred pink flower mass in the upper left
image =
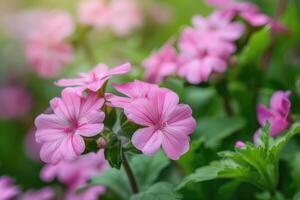
<svg viewBox="0 0 300 200"><path fill-rule="evenodd" d="M57 76L73 59L72 46L65 38L74 31L70 15L64 12L39 14L26 39L26 57L43 78Z"/></svg>

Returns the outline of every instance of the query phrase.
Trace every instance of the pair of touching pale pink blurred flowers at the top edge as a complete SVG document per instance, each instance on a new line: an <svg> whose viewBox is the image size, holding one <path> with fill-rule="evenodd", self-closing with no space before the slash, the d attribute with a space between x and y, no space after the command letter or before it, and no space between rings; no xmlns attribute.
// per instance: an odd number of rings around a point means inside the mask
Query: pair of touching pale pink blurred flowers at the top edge
<svg viewBox="0 0 300 200"><path fill-rule="evenodd" d="M135 0L81 0L79 22L97 29L110 28L124 36L142 25L142 15Z"/></svg>

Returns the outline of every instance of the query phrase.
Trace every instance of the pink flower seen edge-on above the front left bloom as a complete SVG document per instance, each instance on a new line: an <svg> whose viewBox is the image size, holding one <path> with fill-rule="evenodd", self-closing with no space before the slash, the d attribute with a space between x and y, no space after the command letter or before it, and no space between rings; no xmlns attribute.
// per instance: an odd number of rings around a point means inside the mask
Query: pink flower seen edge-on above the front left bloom
<svg viewBox="0 0 300 200"><path fill-rule="evenodd" d="M99 64L88 73L80 73L79 78L61 79L56 85L62 87L75 86L79 93L86 89L97 92L112 76L126 74L130 70L131 66L129 63L125 63L113 69L108 69L106 65Z"/></svg>

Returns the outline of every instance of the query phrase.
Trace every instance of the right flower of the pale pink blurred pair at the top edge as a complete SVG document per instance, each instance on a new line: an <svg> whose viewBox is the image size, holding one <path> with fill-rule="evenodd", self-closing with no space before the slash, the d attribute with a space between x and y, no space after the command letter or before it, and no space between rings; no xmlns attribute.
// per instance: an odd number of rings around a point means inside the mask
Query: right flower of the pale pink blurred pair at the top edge
<svg viewBox="0 0 300 200"><path fill-rule="evenodd" d="M135 0L112 0L111 29L118 36L125 36L142 25L142 13Z"/></svg>

